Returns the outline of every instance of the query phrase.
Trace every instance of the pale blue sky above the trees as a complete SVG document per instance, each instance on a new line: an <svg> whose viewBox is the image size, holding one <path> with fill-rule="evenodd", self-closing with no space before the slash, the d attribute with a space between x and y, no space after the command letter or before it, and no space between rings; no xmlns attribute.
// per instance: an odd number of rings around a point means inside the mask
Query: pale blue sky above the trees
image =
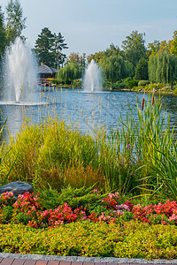
<svg viewBox="0 0 177 265"><path fill-rule="evenodd" d="M0 0L5 11L8 0ZM31 48L43 27L61 33L71 52L87 55L118 45L137 30L145 44L173 39L177 30L177 0L19 0Z"/></svg>

